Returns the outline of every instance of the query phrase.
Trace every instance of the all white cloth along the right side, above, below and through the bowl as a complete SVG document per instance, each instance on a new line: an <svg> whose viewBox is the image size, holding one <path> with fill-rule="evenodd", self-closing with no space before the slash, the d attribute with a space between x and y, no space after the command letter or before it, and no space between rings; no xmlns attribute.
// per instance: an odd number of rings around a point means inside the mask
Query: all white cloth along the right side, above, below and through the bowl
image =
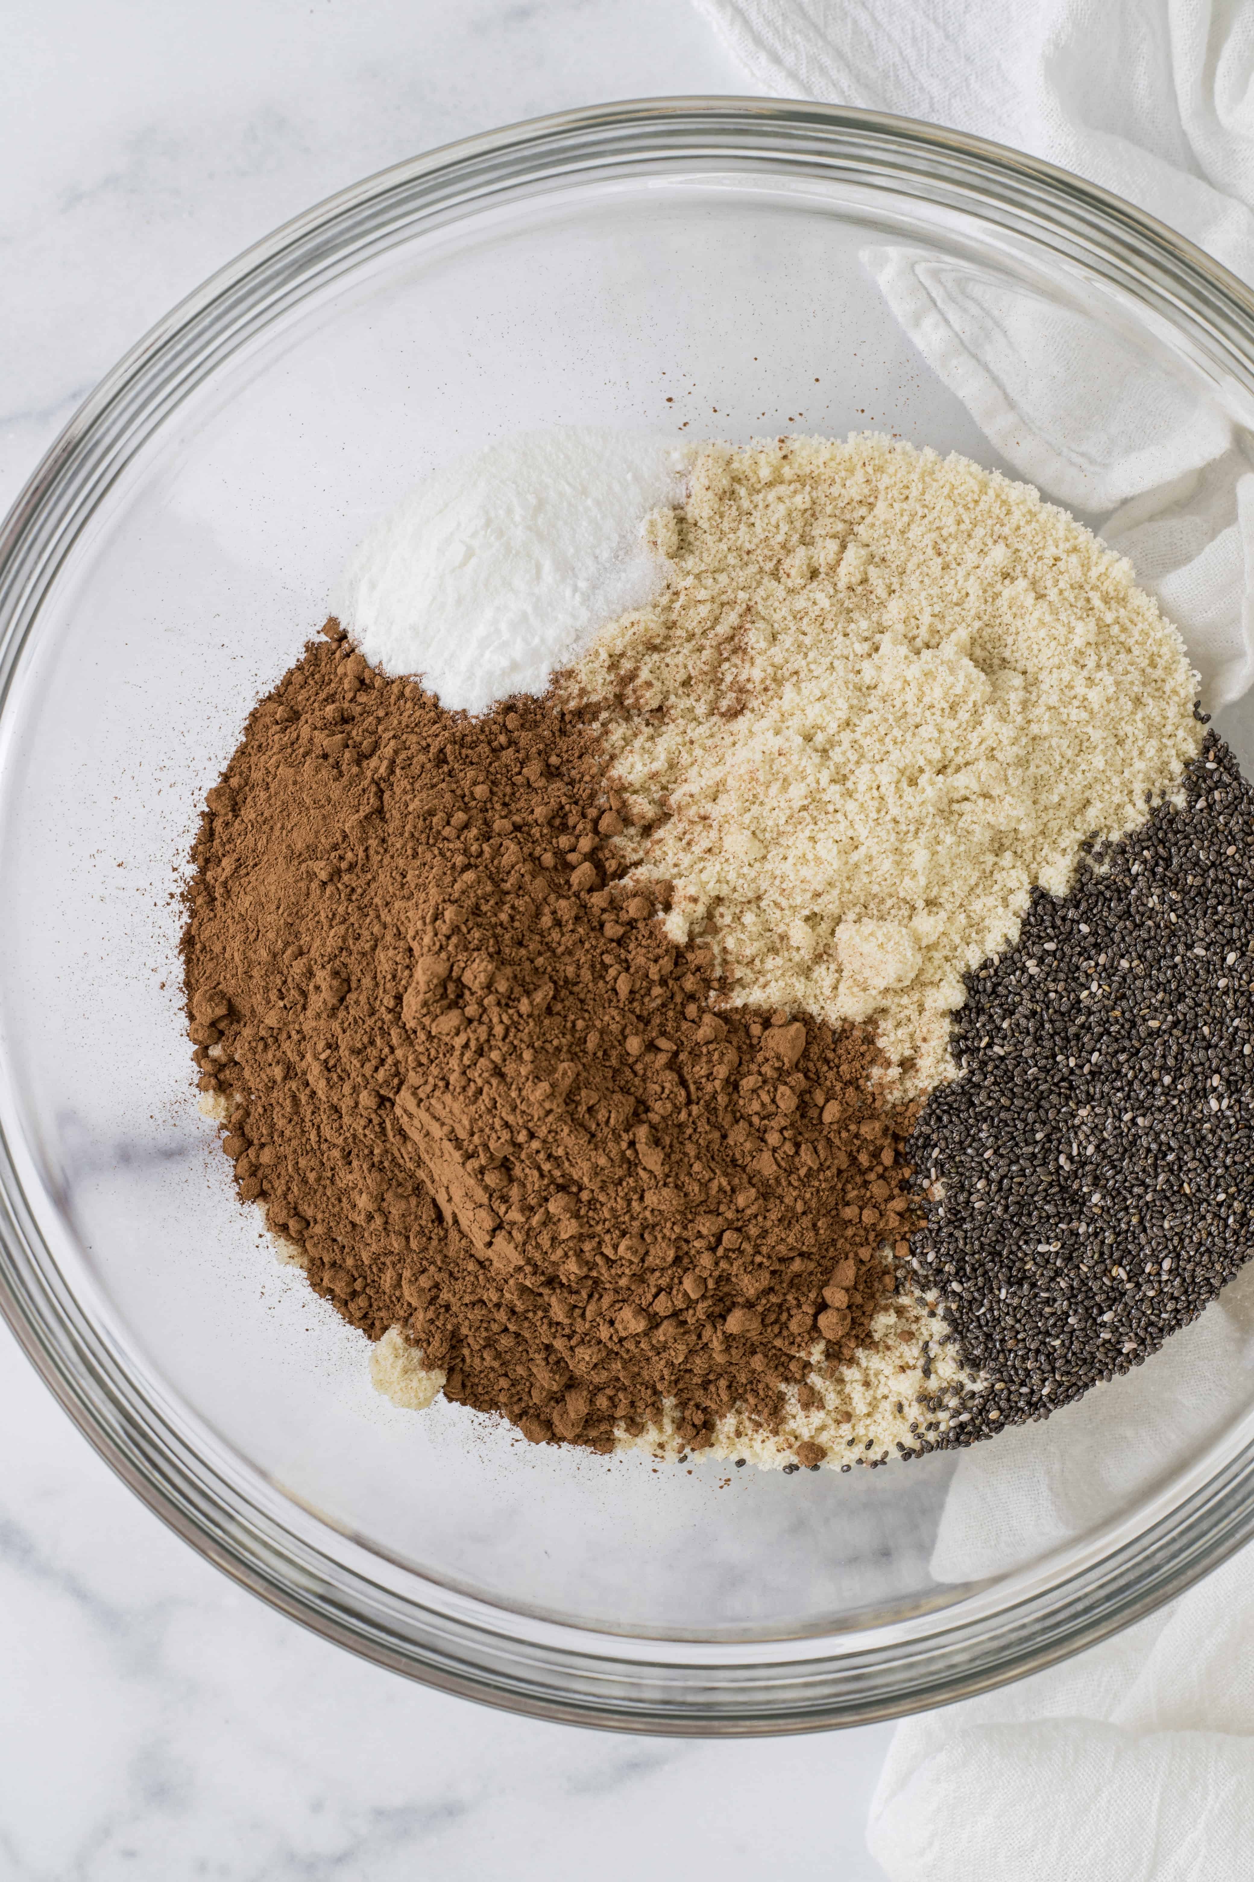
<svg viewBox="0 0 1254 1882"><path fill-rule="evenodd" d="M696 0L754 85L993 137L1149 209L1254 282L1254 0ZM1254 679L1254 450L1062 312L944 258L863 254L996 450L1098 516L1211 708ZM1002 1573L1132 1502L1250 1398L1254 1272L1143 1366L963 1455L940 1581ZM1152 1413L1151 1413L1152 1406ZM1164 1415L1166 1408L1166 1415ZM869 1846L891 1882L1254 1874L1254 1549L1119 1637L899 1726Z"/></svg>

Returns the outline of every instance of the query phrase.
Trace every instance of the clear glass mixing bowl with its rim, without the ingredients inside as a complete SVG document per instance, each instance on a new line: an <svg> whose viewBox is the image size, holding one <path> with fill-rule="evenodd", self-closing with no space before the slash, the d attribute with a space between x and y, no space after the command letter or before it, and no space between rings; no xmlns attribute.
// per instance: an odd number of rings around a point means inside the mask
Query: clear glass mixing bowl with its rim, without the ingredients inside
<svg viewBox="0 0 1254 1882"><path fill-rule="evenodd" d="M946 1579L953 1457L654 1470L399 1412L197 1112L177 890L199 804L367 523L551 423L874 427L998 463L863 265L884 243L1186 407L1254 410L1246 290L1074 177L859 111L605 105L402 164L252 248L92 393L0 542L4 1308L194 1547L496 1705L688 1733L880 1718L1100 1639L1254 1530L1245 1374L1186 1443L1151 1430L1062 1541Z"/></svg>

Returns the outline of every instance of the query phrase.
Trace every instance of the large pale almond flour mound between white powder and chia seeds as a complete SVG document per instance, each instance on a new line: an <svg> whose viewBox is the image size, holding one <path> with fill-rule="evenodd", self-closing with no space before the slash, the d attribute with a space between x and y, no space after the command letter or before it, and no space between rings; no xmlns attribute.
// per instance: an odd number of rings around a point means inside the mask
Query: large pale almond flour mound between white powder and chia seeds
<svg viewBox="0 0 1254 1882"><path fill-rule="evenodd" d="M709 444L651 544L666 589L562 679L600 710L620 854L733 1003L874 1022L925 1093L1032 888L1179 790L1184 646L1034 489L882 437Z"/></svg>

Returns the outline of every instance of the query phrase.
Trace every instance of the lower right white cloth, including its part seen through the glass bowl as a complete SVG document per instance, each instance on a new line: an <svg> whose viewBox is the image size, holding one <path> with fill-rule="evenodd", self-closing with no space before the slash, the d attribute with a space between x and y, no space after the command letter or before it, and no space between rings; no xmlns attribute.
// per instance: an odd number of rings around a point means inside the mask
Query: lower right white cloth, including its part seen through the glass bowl
<svg viewBox="0 0 1254 1882"><path fill-rule="evenodd" d="M1250 1402L1254 1268L1158 1353L964 1451L938 1581L1117 1523ZM1248 1413L1246 1413L1248 1421ZM1237 1882L1254 1839L1254 1558L1015 1686L897 1728L867 1842L891 1882Z"/></svg>

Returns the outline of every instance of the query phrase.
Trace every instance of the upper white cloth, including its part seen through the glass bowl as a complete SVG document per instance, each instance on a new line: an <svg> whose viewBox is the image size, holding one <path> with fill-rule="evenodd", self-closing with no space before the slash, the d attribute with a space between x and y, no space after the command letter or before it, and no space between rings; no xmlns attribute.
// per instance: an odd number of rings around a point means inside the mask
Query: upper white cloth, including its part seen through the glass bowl
<svg viewBox="0 0 1254 1882"><path fill-rule="evenodd" d="M1254 282L1254 8L1241 0L696 0L769 92L1015 145ZM1098 518L1215 710L1254 681L1254 442L1060 309L906 247L863 256L1019 476Z"/></svg>

